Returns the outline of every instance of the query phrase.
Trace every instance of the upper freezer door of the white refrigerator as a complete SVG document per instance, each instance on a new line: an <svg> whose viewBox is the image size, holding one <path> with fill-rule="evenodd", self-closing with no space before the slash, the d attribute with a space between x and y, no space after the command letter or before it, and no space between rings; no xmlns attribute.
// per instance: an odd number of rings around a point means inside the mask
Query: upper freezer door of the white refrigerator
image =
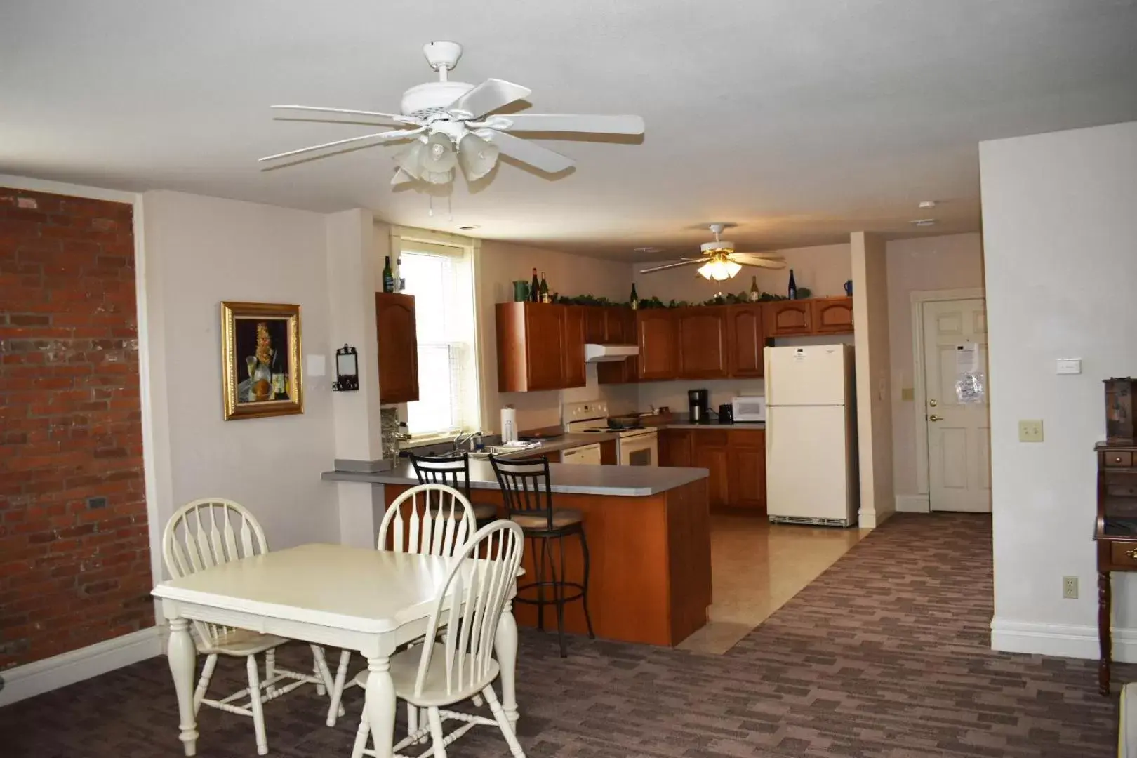
<svg viewBox="0 0 1137 758"><path fill-rule="evenodd" d="M844 344L766 348L766 405L845 405L846 355Z"/></svg>

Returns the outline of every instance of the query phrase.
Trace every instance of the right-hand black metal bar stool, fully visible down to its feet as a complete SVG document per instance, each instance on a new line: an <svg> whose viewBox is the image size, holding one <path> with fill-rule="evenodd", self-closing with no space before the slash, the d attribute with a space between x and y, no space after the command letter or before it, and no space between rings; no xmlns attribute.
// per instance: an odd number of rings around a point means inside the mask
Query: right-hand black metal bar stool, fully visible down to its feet
<svg viewBox="0 0 1137 758"><path fill-rule="evenodd" d="M557 641L561 644L561 657L564 658L567 655L564 635L566 602L580 600L583 603L588 636L596 639L596 634L592 633L592 617L588 613L589 566L588 540L584 539L584 516L579 510L571 508L554 509L548 456L524 460L503 460L490 456L490 464L493 466L493 474L497 475L498 485L501 488L506 514L522 528L525 539L530 540L534 548L532 552L533 566L536 567L534 581L517 586L515 601L537 606L537 628L541 631L545 630L545 606L556 606ZM581 582L570 582L565 577L564 539L572 535L580 538L580 551L584 559L584 575ZM549 544L550 540L556 540L556 547L559 549L559 561L554 557L553 548ZM548 577L546 576L546 564L548 565ZM546 588L551 589L551 599L546 597ZM536 598L522 597L526 590L534 589L537 590ZM570 594L570 592L572 593Z"/></svg>

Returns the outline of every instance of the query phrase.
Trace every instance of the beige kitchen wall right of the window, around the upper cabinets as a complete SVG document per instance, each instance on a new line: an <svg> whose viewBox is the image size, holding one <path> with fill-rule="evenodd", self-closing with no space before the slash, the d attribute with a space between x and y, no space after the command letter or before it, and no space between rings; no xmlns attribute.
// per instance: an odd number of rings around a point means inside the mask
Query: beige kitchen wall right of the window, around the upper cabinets
<svg viewBox="0 0 1137 758"><path fill-rule="evenodd" d="M588 386L548 392L497 391L497 338L495 303L513 300L513 281L545 273L549 290L563 295L594 294L609 300L626 300L631 292L631 275L626 263L600 260L543 248L484 240L478 272L479 338L482 355L483 427L499 431L504 405L517 409L521 430L561 424L561 403L605 399L613 414L629 413L637 407L636 386L601 386L596 382L596 367L588 367Z"/></svg>

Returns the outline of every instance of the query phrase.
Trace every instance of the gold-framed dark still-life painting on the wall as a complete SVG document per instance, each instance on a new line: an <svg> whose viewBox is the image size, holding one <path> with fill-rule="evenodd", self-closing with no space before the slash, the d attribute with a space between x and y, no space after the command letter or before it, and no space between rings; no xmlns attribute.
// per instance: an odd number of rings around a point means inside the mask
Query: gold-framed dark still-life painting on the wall
<svg viewBox="0 0 1137 758"><path fill-rule="evenodd" d="M221 303L225 420L304 413L300 306Z"/></svg>

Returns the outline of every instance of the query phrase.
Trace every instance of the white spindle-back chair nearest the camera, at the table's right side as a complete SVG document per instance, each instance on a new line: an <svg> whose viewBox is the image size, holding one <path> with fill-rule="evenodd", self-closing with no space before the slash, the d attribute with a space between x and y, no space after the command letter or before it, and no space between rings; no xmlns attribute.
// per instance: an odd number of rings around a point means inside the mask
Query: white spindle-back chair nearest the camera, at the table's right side
<svg viewBox="0 0 1137 758"><path fill-rule="evenodd" d="M481 528L455 556L438 593L424 638L430 643L391 656L395 697L406 700L409 708L426 709L429 720L429 725L410 730L392 747L396 755L429 734L433 744L422 755L446 758L446 745L478 724L489 724L501 730L515 758L525 757L493 692L499 672L493 660L495 632L516 580L523 548L524 533L513 522L499 520ZM445 608L447 605L449 608ZM442 627L446 634L435 641ZM365 688L367 676L368 672L362 672L356 684ZM485 698L493 718L443 709L479 694ZM443 719L462 725L447 734L442 731ZM366 748L370 731L364 713L351 758L376 755Z"/></svg>

